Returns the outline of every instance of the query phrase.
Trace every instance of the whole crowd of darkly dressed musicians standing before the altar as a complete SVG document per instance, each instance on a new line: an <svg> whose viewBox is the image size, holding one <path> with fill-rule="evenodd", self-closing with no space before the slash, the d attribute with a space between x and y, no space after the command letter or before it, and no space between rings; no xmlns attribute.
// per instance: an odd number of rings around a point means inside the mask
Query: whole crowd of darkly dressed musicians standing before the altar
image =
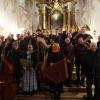
<svg viewBox="0 0 100 100"><path fill-rule="evenodd" d="M17 34L16 40L13 35L7 38L0 36L0 61L2 63L7 59L13 64L13 79L18 87L21 84L25 94L33 94L33 91L40 89L44 66L53 67L55 63L66 58L68 77L63 82L54 83L51 79L48 83L53 100L60 100L63 84L70 86L73 83L74 65L77 85L84 86L86 78L86 99L100 100L100 37L97 43L91 42L92 37L86 31L87 27L84 26L75 32L63 31L47 35L38 29L33 34L29 32ZM0 73L4 72L3 67L3 63L0 64ZM26 80L29 79L32 84L27 83ZM27 84L30 87L27 87ZM95 85L94 96L92 95L93 84Z"/></svg>

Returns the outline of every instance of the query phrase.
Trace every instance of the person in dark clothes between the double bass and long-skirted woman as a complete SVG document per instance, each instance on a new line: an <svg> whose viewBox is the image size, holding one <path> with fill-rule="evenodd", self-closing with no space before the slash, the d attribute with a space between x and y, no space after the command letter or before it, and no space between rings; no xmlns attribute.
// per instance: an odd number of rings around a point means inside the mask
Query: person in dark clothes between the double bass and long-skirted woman
<svg viewBox="0 0 100 100"><path fill-rule="evenodd" d="M20 58L21 58L22 52L19 50L19 44L17 41L14 41L12 43L12 49L7 54L7 59L10 63L14 65L14 73L13 77L16 80L17 85L20 84L20 78L21 78L21 70L22 66L20 65Z"/></svg>

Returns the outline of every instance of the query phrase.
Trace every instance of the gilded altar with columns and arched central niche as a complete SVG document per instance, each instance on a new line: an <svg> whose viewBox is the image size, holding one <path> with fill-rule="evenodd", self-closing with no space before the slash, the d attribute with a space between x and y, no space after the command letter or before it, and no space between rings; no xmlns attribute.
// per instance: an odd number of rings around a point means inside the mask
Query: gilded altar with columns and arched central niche
<svg viewBox="0 0 100 100"><path fill-rule="evenodd" d="M40 29L70 30L75 26L74 0L38 0Z"/></svg>

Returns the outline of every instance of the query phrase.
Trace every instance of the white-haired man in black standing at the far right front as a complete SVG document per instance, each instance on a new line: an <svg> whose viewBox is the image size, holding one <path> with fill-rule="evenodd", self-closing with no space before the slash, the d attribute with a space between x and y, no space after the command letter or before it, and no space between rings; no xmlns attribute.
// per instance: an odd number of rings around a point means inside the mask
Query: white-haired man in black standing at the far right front
<svg viewBox="0 0 100 100"><path fill-rule="evenodd" d="M85 75L87 83L87 99L92 100L92 85L95 85L94 96L95 100L100 100L100 50L97 50L96 43L90 44L85 59Z"/></svg>

